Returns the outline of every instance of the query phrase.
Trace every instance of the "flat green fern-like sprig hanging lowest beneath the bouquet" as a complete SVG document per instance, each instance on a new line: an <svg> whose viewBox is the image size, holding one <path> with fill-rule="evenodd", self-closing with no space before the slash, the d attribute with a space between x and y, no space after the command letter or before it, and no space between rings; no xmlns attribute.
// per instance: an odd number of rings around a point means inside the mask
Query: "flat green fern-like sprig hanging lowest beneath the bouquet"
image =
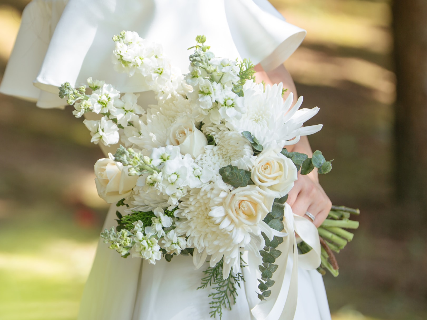
<svg viewBox="0 0 427 320"><path fill-rule="evenodd" d="M231 305L236 303L237 297L237 286L240 288L240 282L245 281L242 273L237 273L234 275L232 272L228 275L227 279L222 277L222 263L221 259L214 267L209 267L203 273L205 276L202 278L202 285L197 289L205 289L208 287L213 287L213 292L209 294L208 297L211 297L211 311L209 314L211 318L219 316L219 319L222 318L222 308L229 308L231 310ZM244 267L246 263L242 260L240 256L240 267Z"/></svg>

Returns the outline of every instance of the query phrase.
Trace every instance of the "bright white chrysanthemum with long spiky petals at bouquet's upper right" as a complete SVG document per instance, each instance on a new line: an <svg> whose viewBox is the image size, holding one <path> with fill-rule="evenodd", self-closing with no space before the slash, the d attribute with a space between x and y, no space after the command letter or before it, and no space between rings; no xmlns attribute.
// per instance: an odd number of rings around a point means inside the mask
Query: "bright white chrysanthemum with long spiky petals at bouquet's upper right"
<svg viewBox="0 0 427 320"><path fill-rule="evenodd" d="M319 108L301 109L302 97L291 108L293 95L290 93L285 102L282 99L282 83L272 87L255 84L252 80L243 85L243 97L237 104L246 108L241 119L231 119L226 125L232 131L249 131L261 145L276 141L281 146L295 144L301 136L316 133L322 125L302 127L303 123L313 117ZM295 138L295 139L293 139ZM293 140L291 140L293 139Z"/></svg>

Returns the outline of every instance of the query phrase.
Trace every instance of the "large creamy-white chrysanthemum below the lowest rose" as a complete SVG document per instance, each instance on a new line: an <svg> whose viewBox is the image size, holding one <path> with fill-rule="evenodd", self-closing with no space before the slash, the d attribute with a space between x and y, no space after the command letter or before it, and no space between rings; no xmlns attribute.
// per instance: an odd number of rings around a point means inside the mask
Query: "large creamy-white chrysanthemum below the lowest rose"
<svg viewBox="0 0 427 320"><path fill-rule="evenodd" d="M202 189L191 189L189 196L182 201L175 216L175 232L179 236L186 235L187 246L194 247L193 263L200 268L208 255L212 255L210 265L214 266L224 258L223 276L226 278L231 268L237 272L240 265L239 244L233 242L229 231L220 229L214 218L209 216L211 207L218 205L216 199L221 199L227 186L219 181L211 183ZM219 200L221 201L221 200Z"/></svg>

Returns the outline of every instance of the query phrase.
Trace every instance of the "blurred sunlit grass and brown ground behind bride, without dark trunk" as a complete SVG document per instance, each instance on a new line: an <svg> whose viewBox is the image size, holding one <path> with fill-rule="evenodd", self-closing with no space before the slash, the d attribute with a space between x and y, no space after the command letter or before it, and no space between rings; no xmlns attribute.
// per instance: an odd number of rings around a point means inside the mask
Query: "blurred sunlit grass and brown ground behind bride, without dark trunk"
<svg viewBox="0 0 427 320"><path fill-rule="evenodd" d="M285 63L312 120L313 149L335 159L321 183L358 207L360 229L325 276L334 320L427 319L425 233L393 224L396 77L388 0L273 0L307 29ZM0 74L27 0L0 0ZM107 206L93 165L103 157L71 109L0 95L0 319L76 319Z"/></svg>

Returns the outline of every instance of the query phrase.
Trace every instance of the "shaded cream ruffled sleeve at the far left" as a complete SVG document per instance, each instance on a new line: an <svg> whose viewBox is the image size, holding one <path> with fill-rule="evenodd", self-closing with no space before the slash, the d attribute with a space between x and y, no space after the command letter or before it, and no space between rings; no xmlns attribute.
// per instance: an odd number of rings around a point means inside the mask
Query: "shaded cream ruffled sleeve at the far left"
<svg viewBox="0 0 427 320"><path fill-rule="evenodd" d="M0 85L1 93L33 102L37 102L46 94L35 87L33 81L40 70L50 38L66 4L67 0L33 0L26 6ZM55 103L56 107L60 105L63 103Z"/></svg>

